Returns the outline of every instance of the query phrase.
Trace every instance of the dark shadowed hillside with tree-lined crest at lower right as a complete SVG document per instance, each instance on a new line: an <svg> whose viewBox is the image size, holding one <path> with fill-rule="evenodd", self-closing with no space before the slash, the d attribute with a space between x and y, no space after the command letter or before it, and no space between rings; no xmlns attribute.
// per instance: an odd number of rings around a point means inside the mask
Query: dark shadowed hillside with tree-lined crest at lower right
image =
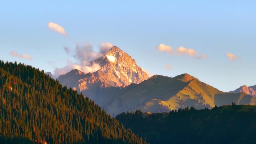
<svg viewBox="0 0 256 144"><path fill-rule="evenodd" d="M255 107L192 107L155 114L136 111L119 114L116 119L150 144L255 144Z"/></svg>

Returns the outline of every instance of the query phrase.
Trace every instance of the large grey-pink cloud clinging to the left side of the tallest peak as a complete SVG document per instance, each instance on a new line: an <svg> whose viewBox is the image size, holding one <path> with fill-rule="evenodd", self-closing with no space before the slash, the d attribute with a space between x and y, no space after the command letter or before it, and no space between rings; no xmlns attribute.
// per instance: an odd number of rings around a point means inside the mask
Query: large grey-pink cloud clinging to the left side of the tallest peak
<svg viewBox="0 0 256 144"><path fill-rule="evenodd" d="M112 47L113 45L111 43L102 43L99 52L95 52L90 44L76 45L76 47L73 49L64 47L64 50L67 53L67 55L70 55L74 59L76 59L76 62L67 60L67 65L65 67L55 68L54 78L58 78L58 76L66 74L73 69L83 71L84 73L93 73L99 70L101 68L100 65L91 63L91 61L100 58Z"/></svg>

